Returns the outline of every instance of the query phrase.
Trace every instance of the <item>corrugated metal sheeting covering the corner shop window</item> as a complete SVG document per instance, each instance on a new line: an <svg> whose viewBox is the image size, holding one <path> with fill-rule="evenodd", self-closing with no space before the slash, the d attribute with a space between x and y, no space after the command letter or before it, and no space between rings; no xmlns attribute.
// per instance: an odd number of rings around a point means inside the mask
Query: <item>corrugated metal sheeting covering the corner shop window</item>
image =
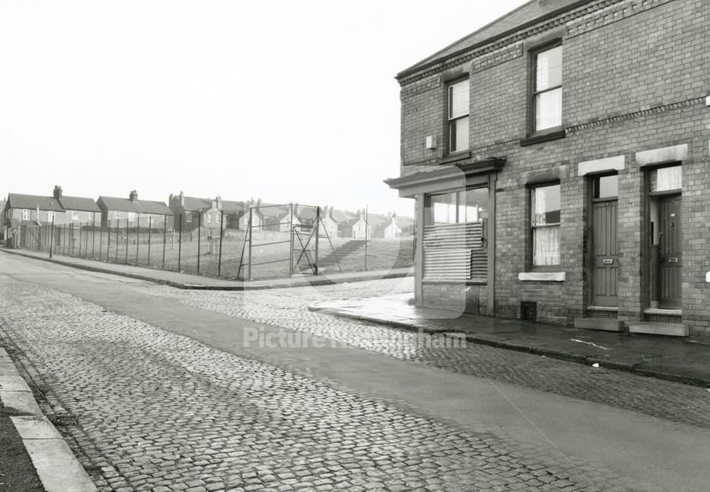
<svg viewBox="0 0 710 492"><path fill-rule="evenodd" d="M424 278L486 281L488 253L482 235L481 222L425 226Z"/></svg>

